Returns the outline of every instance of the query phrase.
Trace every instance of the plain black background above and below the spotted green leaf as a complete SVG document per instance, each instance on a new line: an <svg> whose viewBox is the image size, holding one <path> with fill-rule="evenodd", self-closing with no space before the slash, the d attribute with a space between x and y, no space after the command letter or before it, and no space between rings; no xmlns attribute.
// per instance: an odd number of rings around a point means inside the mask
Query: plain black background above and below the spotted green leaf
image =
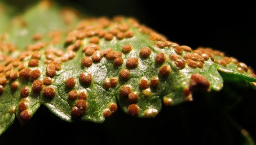
<svg viewBox="0 0 256 145"><path fill-rule="evenodd" d="M117 14L137 17L169 40L192 48L213 47L256 68L256 4L245 1L182 2L156 0L73 0L80 11L95 16ZM64 4L65 5L65 4ZM40 107L29 124L17 119L0 143L27 144L225 144L243 140L228 115L256 139L256 95L252 89L225 84L223 91L206 95L195 92L194 102L163 107L154 119L137 119L118 111L103 124L66 123ZM228 90L229 93L225 93ZM230 94L234 94L231 97ZM242 97L243 96L243 97ZM226 111L236 100L232 111ZM228 114L228 115L227 115ZM53 141L51 141L53 140Z"/></svg>

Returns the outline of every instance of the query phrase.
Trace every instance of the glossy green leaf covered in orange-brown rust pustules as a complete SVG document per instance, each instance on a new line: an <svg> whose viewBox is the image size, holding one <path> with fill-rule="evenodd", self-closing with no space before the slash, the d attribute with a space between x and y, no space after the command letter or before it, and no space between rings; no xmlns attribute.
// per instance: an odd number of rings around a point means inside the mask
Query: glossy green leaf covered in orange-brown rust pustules
<svg viewBox="0 0 256 145"><path fill-rule="evenodd" d="M62 13L71 18L63 17ZM192 92L197 87L221 90L223 79L218 71L252 85L256 81L251 68L226 58L221 52L208 48L192 51L190 47L167 41L132 18L115 17L112 21L105 17L88 18L75 27L78 21L71 10L63 12L54 4L40 3L7 29L9 37L0 42L1 47L9 43L8 49L0 52L0 77L7 79L7 84L1 84L0 133L12 124L14 113L26 123L41 104L68 122L75 119L103 122L116 111L117 102L127 114L148 118L161 110L161 100L166 106L177 105L192 101ZM35 34L42 38L33 40ZM127 45L132 47L129 52L123 50ZM108 48L112 51L104 54ZM40 57L31 58L37 51ZM84 58L92 59L93 63L87 66ZM33 60L38 60L38 64L33 64ZM24 68L19 64L24 64ZM33 79L30 74L24 79L21 72L26 68L37 69L40 75ZM129 72L128 77L121 73L123 70ZM85 77L81 78L81 74ZM52 83L44 83L36 91L35 80L43 82L46 77L51 77ZM74 86L68 87L68 78L74 78ZM154 78L158 78L157 85L153 85ZM142 85L141 80L144 80ZM19 84L17 90L12 86L15 81ZM24 87L28 88L28 94L22 93ZM130 88L125 97L124 87ZM46 88L51 89L46 91ZM73 99L69 97L72 90L76 91ZM81 92L87 97L82 98ZM78 102L82 104L79 106ZM26 106L23 109L22 103Z"/></svg>

